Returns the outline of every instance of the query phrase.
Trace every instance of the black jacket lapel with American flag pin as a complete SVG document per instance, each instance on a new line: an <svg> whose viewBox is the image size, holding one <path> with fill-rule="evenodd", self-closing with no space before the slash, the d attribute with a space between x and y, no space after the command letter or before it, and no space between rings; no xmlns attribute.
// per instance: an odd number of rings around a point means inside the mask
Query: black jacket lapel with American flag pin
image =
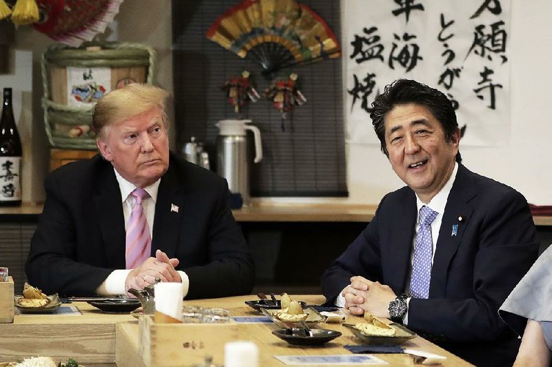
<svg viewBox="0 0 552 367"><path fill-rule="evenodd" d="M169 166L166 174L161 178L157 191L151 244L152 256L155 256L157 249L165 252L168 257L176 256L182 212L184 212L184 197L179 190L179 180L175 170Z"/></svg>

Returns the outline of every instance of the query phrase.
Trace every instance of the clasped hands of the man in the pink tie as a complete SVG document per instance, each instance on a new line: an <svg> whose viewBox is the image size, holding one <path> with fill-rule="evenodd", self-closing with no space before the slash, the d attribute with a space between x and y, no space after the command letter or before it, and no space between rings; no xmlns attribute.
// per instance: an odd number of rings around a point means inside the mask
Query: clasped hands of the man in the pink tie
<svg viewBox="0 0 552 367"><path fill-rule="evenodd" d="M128 297L135 297L128 293L130 288L142 290L150 284L155 284L156 278L159 278L161 281L181 283L182 279L177 270L175 270L178 264L178 259L169 259L165 252L157 250L155 257L149 257L129 272L125 281L125 290Z"/></svg>

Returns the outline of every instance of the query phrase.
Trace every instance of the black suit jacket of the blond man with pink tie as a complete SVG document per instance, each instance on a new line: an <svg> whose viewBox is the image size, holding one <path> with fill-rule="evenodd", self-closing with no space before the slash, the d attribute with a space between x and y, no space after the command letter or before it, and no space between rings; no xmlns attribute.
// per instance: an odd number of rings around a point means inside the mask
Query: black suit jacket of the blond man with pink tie
<svg viewBox="0 0 552 367"><path fill-rule="evenodd" d="M26 263L29 282L48 294L94 295L110 272L125 268L123 199L113 166L99 155L69 163L48 175L44 186L46 202ZM159 184L151 249L154 257L160 249L179 259L177 270L190 279L186 298L253 288L253 262L228 195L226 180L171 152Z"/></svg>

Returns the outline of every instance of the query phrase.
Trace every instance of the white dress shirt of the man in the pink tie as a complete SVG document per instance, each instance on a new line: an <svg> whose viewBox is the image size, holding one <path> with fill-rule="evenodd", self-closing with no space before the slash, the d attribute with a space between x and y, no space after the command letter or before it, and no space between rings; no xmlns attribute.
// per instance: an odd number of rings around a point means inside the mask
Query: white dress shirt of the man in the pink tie
<svg viewBox="0 0 552 367"><path fill-rule="evenodd" d="M113 168L115 170L115 168ZM125 230L130 218L130 212L132 212L132 207L135 204L135 198L130 195L130 192L134 191L136 186L126 181L119 172L115 170L115 177L117 177L117 182L119 183L119 189L121 190L121 198L123 198L123 215L125 221ZM153 234L153 220L155 218L155 202L157 201L157 190L159 189L159 183L161 179L155 181L152 185L144 188L150 197L142 200L142 208L144 208L144 214L146 215L146 220L148 221L148 227L150 228L150 237ZM125 281L126 277L132 269L119 269L113 270L110 275L103 281L102 284L96 289L98 295L125 295ZM188 288L190 286L190 279L186 272L178 270L180 278L182 279L182 288L184 288L184 297L188 294Z"/></svg>

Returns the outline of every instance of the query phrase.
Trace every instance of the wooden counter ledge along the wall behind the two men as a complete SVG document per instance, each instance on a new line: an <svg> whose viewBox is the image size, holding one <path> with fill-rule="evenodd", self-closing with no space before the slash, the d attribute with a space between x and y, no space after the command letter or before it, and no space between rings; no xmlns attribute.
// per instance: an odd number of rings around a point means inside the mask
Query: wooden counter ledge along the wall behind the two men
<svg viewBox="0 0 552 367"><path fill-rule="evenodd" d="M254 204L232 210L242 222L362 222L374 217L375 205L347 204ZM0 216L37 216L42 204L23 204L16 208L0 208ZM552 217L534 216L536 226L552 226Z"/></svg>

